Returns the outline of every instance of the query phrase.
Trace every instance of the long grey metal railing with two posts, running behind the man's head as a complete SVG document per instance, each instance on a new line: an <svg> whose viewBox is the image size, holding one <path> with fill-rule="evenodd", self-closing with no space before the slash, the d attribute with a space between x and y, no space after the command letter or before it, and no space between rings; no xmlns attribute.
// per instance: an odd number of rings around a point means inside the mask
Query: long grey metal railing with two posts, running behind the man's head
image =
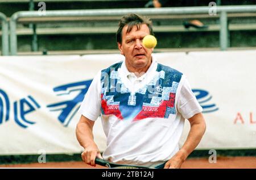
<svg viewBox="0 0 256 180"><path fill-rule="evenodd" d="M170 15L170 14L207 14L211 7L163 7L160 9L100 9L100 10L57 10L46 11L44 15L38 11L15 12L10 19L10 52L17 55L16 23L19 18L66 17L66 16L123 16L129 13L141 15ZM216 6L220 15L220 48L228 48L228 18L230 12L256 12L256 6ZM209 15L210 16L210 15Z"/></svg>

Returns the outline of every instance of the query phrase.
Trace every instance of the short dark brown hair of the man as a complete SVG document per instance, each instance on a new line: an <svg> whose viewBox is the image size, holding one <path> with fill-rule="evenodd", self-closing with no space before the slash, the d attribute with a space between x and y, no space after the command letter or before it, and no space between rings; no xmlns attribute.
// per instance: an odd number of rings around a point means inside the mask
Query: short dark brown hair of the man
<svg viewBox="0 0 256 180"><path fill-rule="evenodd" d="M152 29L152 21L149 18L146 18L144 16L140 16L138 14L127 14L121 18L118 24L118 30L117 30L117 43L122 43L122 30L123 27L128 25L126 33L129 33L133 26L137 26L137 30L141 28L142 24L146 24L147 27L150 30L150 35L154 35L153 29Z"/></svg>

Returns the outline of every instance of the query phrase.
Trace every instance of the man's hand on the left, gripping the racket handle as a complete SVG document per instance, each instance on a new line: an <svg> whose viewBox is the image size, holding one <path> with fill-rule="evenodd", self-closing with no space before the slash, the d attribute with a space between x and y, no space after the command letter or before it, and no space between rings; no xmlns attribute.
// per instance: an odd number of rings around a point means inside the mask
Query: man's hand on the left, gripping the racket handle
<svg viewBox="0 0 256 180"><path fill-rule="evenodd" d="M85 148L84 152L81 154L82 161L84 161L86 164L89 164L91 166L96 166L95 164L95 158L102 158L100 150L96 145L91 145Z"/></svg>

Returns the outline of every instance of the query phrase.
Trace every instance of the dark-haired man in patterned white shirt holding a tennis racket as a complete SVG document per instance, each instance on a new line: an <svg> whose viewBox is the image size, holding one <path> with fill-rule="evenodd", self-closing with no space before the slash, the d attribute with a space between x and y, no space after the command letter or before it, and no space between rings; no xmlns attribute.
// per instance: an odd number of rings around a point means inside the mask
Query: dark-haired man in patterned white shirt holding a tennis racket
<svg viewBox="0 0 256 180"><path fill-rule="evenodd" d="M102 158L92 133L100 114L107 137L103 158L119 164L180 168L205 132L187 79L152 57L153 49L142 44L146 35L154 35L149 19L129 14L120 20L117 44L125 61L94 77L79 110L76 136L86 164ZM191 130L179 149L184 119Z"/></svg>

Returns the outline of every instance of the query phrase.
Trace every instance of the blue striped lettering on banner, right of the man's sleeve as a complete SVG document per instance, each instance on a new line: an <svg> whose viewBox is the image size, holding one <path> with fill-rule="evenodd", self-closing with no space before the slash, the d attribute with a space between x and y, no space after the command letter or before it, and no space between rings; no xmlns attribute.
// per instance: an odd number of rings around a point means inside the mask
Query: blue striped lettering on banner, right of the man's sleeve
<svg viewBox="0 0 256 180"><path fill-rule="evenodd" d="M208 91L202 89L192 89L193 93L196 95L197 101L200 106L203 107L203 113L214 112L218 110L218 107L214 103L210 103L212 96Z"/></svg>

